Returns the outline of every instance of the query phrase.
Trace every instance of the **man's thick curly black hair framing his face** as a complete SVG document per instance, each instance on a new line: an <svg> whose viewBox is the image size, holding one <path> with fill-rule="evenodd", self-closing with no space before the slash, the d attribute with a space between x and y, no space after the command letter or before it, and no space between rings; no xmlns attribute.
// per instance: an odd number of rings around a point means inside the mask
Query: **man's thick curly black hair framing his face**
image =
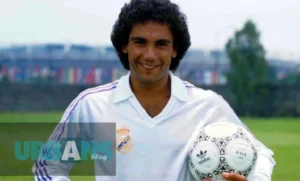
<svg viewBox="0 0 300 181"><path fill-rule="evenodd" d="M134 25L147 21L167 24L173 35L177 56L172 58L170 70L175 71L180 60L191 45L186 16L178 5L170 0L131 0L121 9L113 26L111 41L125 69L129 70L128 54L122 48L128 44L129 34Z"/></svg>

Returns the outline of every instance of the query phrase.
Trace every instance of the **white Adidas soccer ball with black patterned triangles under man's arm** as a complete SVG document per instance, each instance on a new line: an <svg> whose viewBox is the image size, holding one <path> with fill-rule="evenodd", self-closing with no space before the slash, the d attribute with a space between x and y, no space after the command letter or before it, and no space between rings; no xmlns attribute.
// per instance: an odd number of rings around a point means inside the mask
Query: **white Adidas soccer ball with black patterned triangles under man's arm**
<svg viewBox="0 0 300 181"><path fill-rule="evenodd" d="M189 169L196 180L225 180L223 172L247 177L257 159L253 136L243 127L229 122L205 126L188 153Z"/></svg>

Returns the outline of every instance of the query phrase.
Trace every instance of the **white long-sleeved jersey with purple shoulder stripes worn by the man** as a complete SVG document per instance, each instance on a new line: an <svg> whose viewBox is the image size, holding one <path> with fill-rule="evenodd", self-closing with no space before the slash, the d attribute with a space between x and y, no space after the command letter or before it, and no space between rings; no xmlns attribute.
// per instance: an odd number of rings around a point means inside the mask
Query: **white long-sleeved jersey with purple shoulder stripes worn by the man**
<svg viewBox="0 0 300 181"><path fill-rule="evenodd" d="M61 120L113 122L116 131L130 133L130 145L116 152L116 176L95 176L96 181L192 181L187 154L197 131L217 121L245 126L221 96L182 81L171 72L171 97L162 112L152 118L133 94L129 74L79 94ZM248 180L270 181L275 165L273 152L258 140L256 147L257 164ZM38 164L34 172L39 176L35 179L68 181L69 165L53 164ZM49 175L56 168L65 168L66 176Z"/></svg>

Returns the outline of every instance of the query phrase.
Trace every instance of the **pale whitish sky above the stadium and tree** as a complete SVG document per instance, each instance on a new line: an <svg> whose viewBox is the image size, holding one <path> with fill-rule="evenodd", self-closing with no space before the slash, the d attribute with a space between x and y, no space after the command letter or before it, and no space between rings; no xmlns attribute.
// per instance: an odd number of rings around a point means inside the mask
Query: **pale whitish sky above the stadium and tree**
<svg viewBox="0 0 300 181"><path fill-rule="evenodd" d="M111 45L128 0L0 0L0 44ZM221 49L251 19L268 57L300 62L299 0L173 0L187 15L191 48Z"/></svg>

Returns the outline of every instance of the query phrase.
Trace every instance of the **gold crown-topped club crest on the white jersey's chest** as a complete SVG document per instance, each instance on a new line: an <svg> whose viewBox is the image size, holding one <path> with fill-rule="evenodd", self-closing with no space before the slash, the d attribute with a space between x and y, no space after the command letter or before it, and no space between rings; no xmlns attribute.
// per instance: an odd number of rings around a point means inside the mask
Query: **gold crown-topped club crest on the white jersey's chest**
<svg viewBox="0 0 300 181"><path fill-rule="evenodd" d="M129 153L133 148L133 141L130 138L130 130L128 128L117 129L116 149L118 153Z"/></svg>

